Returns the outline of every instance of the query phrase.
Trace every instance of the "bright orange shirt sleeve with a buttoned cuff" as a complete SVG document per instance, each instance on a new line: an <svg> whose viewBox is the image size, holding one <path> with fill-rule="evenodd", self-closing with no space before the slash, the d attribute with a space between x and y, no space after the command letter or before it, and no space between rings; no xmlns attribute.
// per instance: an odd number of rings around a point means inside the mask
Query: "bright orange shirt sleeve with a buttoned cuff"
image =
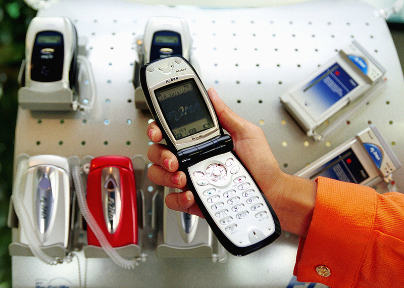
<svg viewBox="0 0 404 288"><path fill-rule="evenodd" d="M404 194L319 177L294 275L337 287L404 287ZM317 271L319 270L319 272Z"/></svg>

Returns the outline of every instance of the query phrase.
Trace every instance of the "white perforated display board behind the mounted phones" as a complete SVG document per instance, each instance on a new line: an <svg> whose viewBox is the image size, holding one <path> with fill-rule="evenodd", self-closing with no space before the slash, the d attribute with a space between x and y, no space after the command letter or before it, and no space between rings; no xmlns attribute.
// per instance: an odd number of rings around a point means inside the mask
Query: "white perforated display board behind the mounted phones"
<svg viewBox="0 0 404 288"><path fill-rule="evenodd" d="M38 15L67 16L76 25L79 37L87 38L85 56L94 74L96 102L88 114L19 109L16 156L145 156L149 145L145 128L150 115L134 107L136 39L143 34L149 17L170 15L188 22L193 38L192 59L197 61L205 85L214 86L230 108L262 127L283 171L295 173L369 123L378 126L404 163L404 81L398 56L385 21L359 1L323 0L215 10L119 0L61 0ZM354 39L386 68L386 90L326 141L314 142L285 112L279 97ZM394 173L400 187L404 187L402 170ZM149 193L153 194L156 187L151 187ZM86 275L88 286L283 288L292 279L298 244L296 236L284 233L274 244L252 255L229 256L226 263L213 264L206 259L157 259L154 235L148 243L145 238L148 258L135 271L122 270L110 260L85 261L78 253L82 279ZM111 273L107 275L105 271ZM34 258L13 257L16 286L33 286L35 281L51 283L55 279L77 286L77 275L74 262L49 267Z"/></svg>

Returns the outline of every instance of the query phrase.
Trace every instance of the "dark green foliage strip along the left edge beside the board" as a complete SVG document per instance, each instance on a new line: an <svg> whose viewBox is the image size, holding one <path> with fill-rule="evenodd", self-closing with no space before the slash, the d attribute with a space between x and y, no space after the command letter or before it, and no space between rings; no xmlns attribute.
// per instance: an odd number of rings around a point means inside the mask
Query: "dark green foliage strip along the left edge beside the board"
<svg viewBox="0 0 404 288"><path fill-rule="evenodd" d="M14 137L17 120L18 71L24 59L25 34L36 11L23 0L0 0L0 288L12 284L11 229L7 227L13 180Z"/></svg>

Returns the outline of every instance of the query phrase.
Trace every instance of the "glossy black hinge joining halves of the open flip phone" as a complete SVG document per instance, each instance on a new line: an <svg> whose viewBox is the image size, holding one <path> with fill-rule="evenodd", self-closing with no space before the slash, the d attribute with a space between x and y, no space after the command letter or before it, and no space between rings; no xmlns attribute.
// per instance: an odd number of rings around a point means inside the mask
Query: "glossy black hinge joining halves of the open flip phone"
<svg viewBox="0 0 404 288"><path fill-rule="evenodd" d="M181 149L177 152L180 167L189 167L201 160L229 152L233 149L230 135L220 135L198 145Z"/></svg>

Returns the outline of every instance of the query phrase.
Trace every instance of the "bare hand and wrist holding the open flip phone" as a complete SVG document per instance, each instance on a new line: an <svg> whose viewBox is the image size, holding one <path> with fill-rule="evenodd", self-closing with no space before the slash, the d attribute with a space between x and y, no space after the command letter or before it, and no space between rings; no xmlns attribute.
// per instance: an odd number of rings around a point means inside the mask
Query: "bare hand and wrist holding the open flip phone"
<svg viewBox="0 0 404 288"><path fill-rule="evenodd" d="M218 96L213 88L208 90L209 97L218 115L222 127L227 130L234 144L234 152L257 181L272 207L278 215L284 229L297 234L307 234L311 213L315 201L315 182L283 173L273 156L263 130L257 125L234 113ZM147 126L147 135L153 142L160 142L163 135L155 122ZM186 176L178 171L177 158L166 146L153 144L147 157L154 165L148 169L148 177L156 184L180 188L184 192L172 193L166 197L169 208L203 217L197 207L191 191L186 188ZM307 181L310 181L307 182ZM304 184L305 187L300 187ZM298 188L297 188L298 187ZM314 188L314 198L313 198ZM296 189L300 191L297 193ZM303 192L301 192L303 191ZM305 194L308 193L308 195ZM310 194L309 194L310 192ZM308 199L302 198L308 196ZM300 196L300 197L299 197ZM301 205L294 199L303 201ZM313 207L312 207L313 206ZM304 214L302 221L296 220L296 214ZM303 226L303 227L302 227Z"/></svg>

